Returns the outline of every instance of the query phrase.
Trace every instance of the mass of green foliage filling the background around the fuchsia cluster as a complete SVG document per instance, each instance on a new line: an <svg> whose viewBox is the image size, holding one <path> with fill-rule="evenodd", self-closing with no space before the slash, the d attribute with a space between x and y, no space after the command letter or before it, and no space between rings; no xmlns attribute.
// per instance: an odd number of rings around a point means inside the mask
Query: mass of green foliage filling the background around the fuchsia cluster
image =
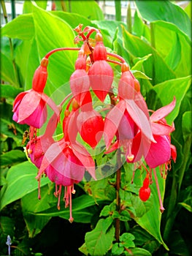
<svg viewBox="0 0 192 256"><path fill-rule="evenodd" d="M96 1L63 2L65 11L62 1L56 1L57 11L47 11L47 1L25 1L23 14L1 28L1 81L6 82L1 84L0 105L1 254L7 254L9 235L12 255L191 255L190 7L185 11L171 1L135 1L133 23L129 16L123 23L118 21L120 1L115 1L116 20L104 20ZM149 109L177 99L167 117L175 125L172 143L177 162L166 181L158 173L166 208L162 215L155 184L150 200L142 203L138 197L142 173L136 173L131 185L128 164L123 165L120 189L126 210L119 215L110 185L114 176L77 186L72 225L69 210L57 210L54 185L47 178L42 179L42 200L37 200L37 168L28 162L22 146L27 127L12 121L12 102L20 91L31 89L34 71L47 52L77 47L73 29L79 23L99 28L107 49L128 62ZM64 84L62 98L69 94L67 82L76 59L74 51L51 56L46 94L54 97ZM96 161L105 160L100 156ZM115 243L115 218L123 222L120 243Z"/></svg>

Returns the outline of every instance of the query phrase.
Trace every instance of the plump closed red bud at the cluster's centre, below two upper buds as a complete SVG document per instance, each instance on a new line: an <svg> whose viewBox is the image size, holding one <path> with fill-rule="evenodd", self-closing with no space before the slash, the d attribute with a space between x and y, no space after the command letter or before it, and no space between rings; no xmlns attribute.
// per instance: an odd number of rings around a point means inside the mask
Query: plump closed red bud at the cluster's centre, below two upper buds
<svg viewBox="0 0 192 256"><path fill-rule="evenodd" d="M95 148L103 134L103 118L95 110L82 111L77 117L77 129L82 140Z"/></svg>

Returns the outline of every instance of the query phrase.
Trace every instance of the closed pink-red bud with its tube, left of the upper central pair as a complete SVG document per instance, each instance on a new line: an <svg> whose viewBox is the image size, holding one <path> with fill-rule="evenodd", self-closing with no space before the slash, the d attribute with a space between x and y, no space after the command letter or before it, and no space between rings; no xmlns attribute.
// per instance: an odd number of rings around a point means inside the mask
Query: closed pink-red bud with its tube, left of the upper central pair
<svg viewBox="0 0 192 256"><path fill-rule="evenodd" d="M70 78L70 87L74 98L79 105L82 105L82 101L85 98L86 92L90 88L90 82L88 74L86 73L86 61L82 54L82 50L79 52L79 56L75 63L75 71Z"/></svg>

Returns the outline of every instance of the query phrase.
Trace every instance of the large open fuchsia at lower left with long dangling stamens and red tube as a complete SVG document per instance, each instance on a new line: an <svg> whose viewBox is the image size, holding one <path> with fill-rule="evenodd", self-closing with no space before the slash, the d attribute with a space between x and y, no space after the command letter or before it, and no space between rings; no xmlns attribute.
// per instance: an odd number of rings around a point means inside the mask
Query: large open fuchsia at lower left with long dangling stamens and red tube
<svg viewBox="0 0 192 256"><path fill-rule="evenodd" d="M96 179L95 163L88 151L78 143L75 138L77 135L77 111L70 113L64 119L64 138L52 143L42 159L37 179L45 173L50 181L55 182L58 196L58 209L60 208L61 187L66 187L65 200L66 206L70 206L70 218L72 222L72 193L74 184L82 181L85 170ZM69 132L73 129L74 132ZM57 186L59 189L57 189Z"/></svg>

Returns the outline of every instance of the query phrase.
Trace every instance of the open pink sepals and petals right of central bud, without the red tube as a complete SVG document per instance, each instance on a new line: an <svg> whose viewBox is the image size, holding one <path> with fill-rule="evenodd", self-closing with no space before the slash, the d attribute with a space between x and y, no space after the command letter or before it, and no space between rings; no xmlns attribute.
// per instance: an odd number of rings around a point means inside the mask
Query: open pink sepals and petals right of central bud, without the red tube
<svg viewBox="0 0 192 256"><path fill-rule="evenodd" d="M122 125L122 127L120 127ZM154 141L150 120L146 115L145 104L143 109L139 108L134 99L121 99L117 105L107 114L104 121L104 139L107 148L110 147L112 139L118 135L118 145L121 146L121 139L126 140L128 145L137 136L137 132L142 132L146 141ZM117 143L116 143L117 144ZM130 148L129 148L130 149ZM133 157L131 157L133 159Z"/></svg>

